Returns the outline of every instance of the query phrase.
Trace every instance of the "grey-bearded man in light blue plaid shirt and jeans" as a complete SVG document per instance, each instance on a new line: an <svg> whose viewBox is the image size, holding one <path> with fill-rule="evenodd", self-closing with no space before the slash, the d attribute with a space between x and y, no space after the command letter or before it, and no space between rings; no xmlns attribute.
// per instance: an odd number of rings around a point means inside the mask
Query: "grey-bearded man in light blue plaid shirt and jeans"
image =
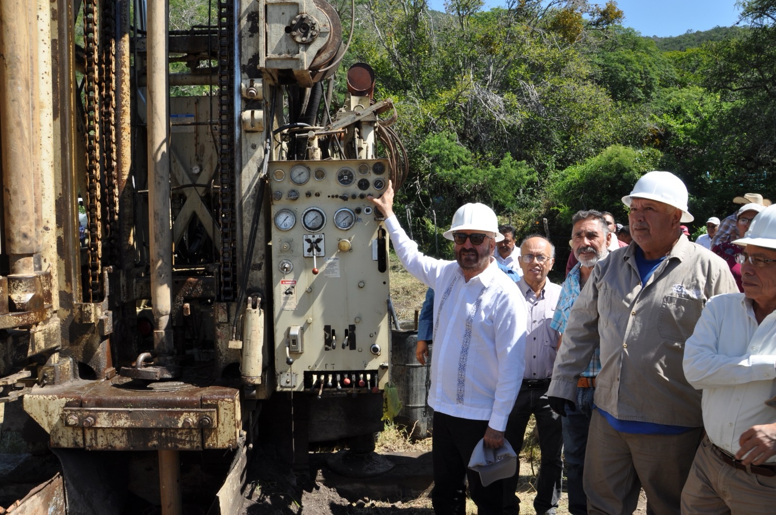
<svg viewBox="0 0 776 515"><path fill-rule="evenodd" d="M577 211L571 218L571 244L573 254L579 261L566 275L566 281L560 290L558 306L550 327L560 333L558 347L563 345L563 333L569 320L571 306L577 301L580 290L590 278L598 261L606 258L611 243L611 232L603 214L591 209ZM569 493L569 512L572 515L587 514L587 496L582 486L584 471L584 453L587 447L587 430L593 416L593 394L595 377L601 370L601 358L598 347L593 352L590 363L580 374L575 406L566 408L563 421L563 456L566 461L566 487Z"/></svg>

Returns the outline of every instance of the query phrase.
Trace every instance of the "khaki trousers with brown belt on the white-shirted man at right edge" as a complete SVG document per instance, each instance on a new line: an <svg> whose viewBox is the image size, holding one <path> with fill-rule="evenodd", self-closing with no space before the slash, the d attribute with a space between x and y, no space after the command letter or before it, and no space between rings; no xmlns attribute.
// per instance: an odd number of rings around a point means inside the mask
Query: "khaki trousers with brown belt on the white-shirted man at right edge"
<svg viewBox="0 0 776 515"><path fill-rule="evenodd" d="M751 474L727 465L704 437L681 493L681 513L773 515L776 476Z"/></svg>

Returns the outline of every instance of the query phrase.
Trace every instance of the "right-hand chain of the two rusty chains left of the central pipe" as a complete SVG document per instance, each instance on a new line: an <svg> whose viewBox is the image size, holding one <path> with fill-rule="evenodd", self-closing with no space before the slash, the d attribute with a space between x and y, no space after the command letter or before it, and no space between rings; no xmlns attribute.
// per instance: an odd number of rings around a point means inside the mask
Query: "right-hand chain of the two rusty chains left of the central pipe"
<svg viewBox="0 0 776 515"><path fill-rule="evenodd" d="M120 262L119 188L116 177L116 2L103 0L102 33L102 158L106 188L105 217L109 264Z"/></svg>

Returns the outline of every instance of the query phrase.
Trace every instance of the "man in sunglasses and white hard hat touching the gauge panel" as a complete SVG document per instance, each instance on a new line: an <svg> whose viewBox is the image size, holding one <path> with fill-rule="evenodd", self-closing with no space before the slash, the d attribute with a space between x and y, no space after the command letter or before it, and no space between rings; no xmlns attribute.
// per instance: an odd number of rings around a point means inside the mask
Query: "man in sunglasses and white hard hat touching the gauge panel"
<svg viewBox="0 0 776 515"><path fill-rule="evenodd" d="M461 206L445 238L455 242L456 261L417 251L393 214L393 186L369 199L385 216L404 268L435 289L434 359L428 405L434 409L434 489L438 515L466 513L465 479L480 513L502 513L503 481L483 486L467 468L476 444L504 443L509 413L525 366L525 300L493 257L501 241L496 214L483 204Z"/></svg>

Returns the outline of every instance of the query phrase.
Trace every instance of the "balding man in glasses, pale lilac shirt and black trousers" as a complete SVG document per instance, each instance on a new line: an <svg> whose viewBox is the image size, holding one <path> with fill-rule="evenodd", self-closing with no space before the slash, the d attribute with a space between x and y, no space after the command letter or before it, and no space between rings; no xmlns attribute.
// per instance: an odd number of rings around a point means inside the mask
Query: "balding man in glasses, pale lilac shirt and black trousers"
<svg viewBox="0 0 776 515"><path fill-rule="evenodd" d="M525 427L533 415L539 431L539 450L542 464L536 482L534 509L536 513L555 513L560 499L560 480L563 475L563 428L560 417L549 407L547 389L553 375L557 353L558 331L549 327L558 303L560 286L553 284L547 274L553 269L555 247L545 237L532 234L520 245L520 268L523 277L518 288L528 303L528 334L525 337L525 369L518 399L514 403L507 425L507 440L519 449L523 446ZM514 495L520 479L520 468L505 480L504 513L520 513L520 499Z"/></svg>

